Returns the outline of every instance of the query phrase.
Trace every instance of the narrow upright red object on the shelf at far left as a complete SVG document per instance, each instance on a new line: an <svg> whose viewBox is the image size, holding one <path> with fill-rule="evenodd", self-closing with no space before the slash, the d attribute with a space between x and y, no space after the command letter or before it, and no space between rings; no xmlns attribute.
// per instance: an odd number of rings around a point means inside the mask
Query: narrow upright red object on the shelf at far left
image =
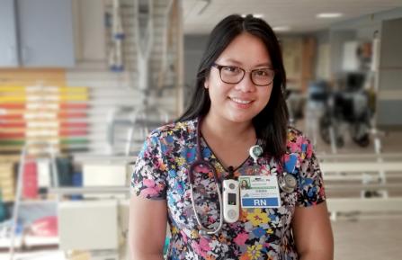
<svg viewBox="0 0 402 260"><path fill-rule="evenodd" d="M38 167L36 162L26 162L23 166L22 197L24 199L38 198Z"/></svg>

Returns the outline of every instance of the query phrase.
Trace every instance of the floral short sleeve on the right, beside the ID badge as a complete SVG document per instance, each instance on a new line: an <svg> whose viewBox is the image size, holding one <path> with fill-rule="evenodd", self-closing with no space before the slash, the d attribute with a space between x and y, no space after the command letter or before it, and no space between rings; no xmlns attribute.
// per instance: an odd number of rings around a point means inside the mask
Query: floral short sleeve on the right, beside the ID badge
<svg viewBox="0 0 402 260"><path fill-rule="evenodd" d="M326 192L313 146L309 139L300 138L298 205L308 207L324 202Z"/></svg>

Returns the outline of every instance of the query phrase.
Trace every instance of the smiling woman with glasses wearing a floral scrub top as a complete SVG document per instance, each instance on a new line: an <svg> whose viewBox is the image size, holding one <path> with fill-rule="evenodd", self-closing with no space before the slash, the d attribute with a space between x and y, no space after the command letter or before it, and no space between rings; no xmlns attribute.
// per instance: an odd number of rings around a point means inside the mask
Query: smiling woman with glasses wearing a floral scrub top
<svg viewBox="0 0 402 260"><path fill-rule="evenodd" d="M154 130L138 155L130 201L134 259L163 259L166 222L167 259L333 259L322 175L308 139L288 128L285 81L266 22L252 15L219 22L190 108ZM262 156L249 156L255 145ZM197 160L213 170L193 171ZM245 175L251 189L240 192L240 216L222 221L216 184ZM297 185L284 182L286 175ZM262 178L272 180L278 205L246 206Z"/></svg>

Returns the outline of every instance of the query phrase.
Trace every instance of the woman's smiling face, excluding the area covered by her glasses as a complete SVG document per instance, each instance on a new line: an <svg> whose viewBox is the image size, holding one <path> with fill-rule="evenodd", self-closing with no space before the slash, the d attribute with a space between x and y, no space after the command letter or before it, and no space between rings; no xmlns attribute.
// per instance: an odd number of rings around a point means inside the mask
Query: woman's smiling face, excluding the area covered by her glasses
<svg viewBox="0 0 402 260"><path fill-rule="evenodd" d="M220 66L235 66L246 70L237 84L224 83L217 67L210 68L204 86L210 94L209 115L219 121L249 122L261 112L270 100L270 85L255 85L248 71L272 68L270 54L259 38L242 33L237 36L215 61Z"/></svg>

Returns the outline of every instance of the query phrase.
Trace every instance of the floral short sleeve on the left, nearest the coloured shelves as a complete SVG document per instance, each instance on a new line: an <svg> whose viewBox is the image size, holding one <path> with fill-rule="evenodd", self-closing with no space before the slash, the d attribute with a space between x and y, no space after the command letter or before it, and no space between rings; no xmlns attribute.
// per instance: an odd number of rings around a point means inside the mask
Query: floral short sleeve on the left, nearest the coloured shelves
<svg viewBox="0 0 402 260"><path fill-rule="evenodd" d="M165 200L166 173L160 140L151 135L144 142L133 166L131 193L151 200Z"/></svg>

